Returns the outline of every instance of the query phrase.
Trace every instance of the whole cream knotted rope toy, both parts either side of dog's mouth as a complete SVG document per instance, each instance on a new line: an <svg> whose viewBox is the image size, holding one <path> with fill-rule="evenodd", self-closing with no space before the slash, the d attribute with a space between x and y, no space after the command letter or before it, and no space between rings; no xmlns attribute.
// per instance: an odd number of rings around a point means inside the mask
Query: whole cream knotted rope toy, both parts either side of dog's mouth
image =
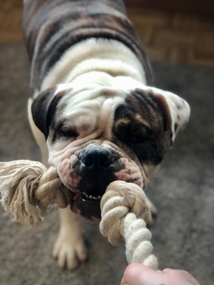
<svg viewBox="0 0 214 285"><path fill-rule="evenodd" d="M16 221L36 226L44 209L56 203L65 208L71 196L55 167L40 162L17 160L0 163L1 202ZM146 228L150 205L144 191L136 184L114 181L101 199L101 233L112 245L126 245L128 263L140 262L157 270L158 260L151 254L151 233Z"/></svg>

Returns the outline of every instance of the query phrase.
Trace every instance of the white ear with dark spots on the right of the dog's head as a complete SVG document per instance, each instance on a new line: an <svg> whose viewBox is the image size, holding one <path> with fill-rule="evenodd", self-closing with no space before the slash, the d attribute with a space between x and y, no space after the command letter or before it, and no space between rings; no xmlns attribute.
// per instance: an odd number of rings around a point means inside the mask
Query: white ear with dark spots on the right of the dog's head
<svg viewBox="0 0 214 285"><path fill-rule="evenodd" d="M181 97L167 91L152 87L153 94L163 111L165 131L169 147L172 146L177 134L186 127L189 121L189 104Z"/></svg>

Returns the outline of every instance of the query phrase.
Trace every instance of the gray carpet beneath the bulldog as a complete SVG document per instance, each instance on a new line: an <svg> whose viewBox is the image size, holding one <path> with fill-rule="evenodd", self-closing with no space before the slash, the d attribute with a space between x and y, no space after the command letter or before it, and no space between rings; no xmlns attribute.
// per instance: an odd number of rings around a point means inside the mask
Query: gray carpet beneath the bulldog
<svg viewBox="0 0 214 285"><path fill-rule="evenodd" d="M27 121L29 64L22 45L0 45L0 161L39 160ZM158 207L152 244L160 268L185 269L202 284L214 284L214 69L152 64L156 86L191 105L185 131L166 154L148 188ZM119 285L127 265L123 247L113 247L98 225L83 222L89 259L73 272L51 258L57 211L32 229L14 223L0 206L1 285Z"/></svg>

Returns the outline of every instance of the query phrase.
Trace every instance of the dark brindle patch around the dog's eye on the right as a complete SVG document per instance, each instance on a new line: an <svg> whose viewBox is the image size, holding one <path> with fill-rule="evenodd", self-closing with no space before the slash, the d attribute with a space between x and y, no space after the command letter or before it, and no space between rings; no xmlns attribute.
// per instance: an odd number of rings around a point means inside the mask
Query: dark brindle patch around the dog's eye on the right
<svg viewBox="0 0 214 285"><path fill-rule="evenodd" d="M126 152L134 153L141 164L160 164L164 156L164 118L153 94L136 89L126 97L115 110L112 138Z"/></svg>

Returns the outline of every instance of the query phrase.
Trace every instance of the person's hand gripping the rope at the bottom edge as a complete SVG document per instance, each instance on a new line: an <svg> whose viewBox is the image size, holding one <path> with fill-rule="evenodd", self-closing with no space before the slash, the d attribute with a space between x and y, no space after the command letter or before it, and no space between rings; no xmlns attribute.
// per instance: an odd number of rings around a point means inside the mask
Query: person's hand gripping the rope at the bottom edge
<svg viewBox="0 0 214 285"><path fill-rule="evenodd" d="M200 285L187 271L166 268L162 272L140 264L132 263L126 267L121 285Z"/></svg>

